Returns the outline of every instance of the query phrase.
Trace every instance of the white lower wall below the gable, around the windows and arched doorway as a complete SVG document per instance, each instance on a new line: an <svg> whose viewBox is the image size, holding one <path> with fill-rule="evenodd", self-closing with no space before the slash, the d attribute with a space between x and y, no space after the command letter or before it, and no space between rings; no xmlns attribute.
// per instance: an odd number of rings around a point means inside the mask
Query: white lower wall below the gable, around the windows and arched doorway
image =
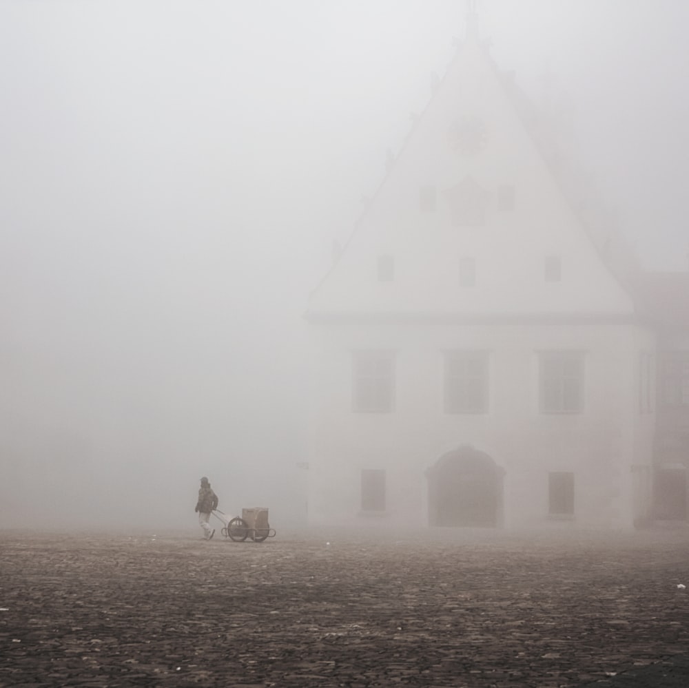
<svg viewBox="0 0 689 688"><path fill-rule="evenodd" d="M577 525L630 526L631 466L650 465L652 419L639 418L638 357L652 336L630 324L491 326L325 326L320 342L318 410L309 513L351 521L360 508L360 471L387 471L387 518L427 523L424 471L463 444L504 470L508 527L544 524L548 471L575 472ZM395 350L393 413L353 413L351 355ZM489 412L442 408L448 349L489 351ZM584 352L584 412L542 415L538 352ZM384 520L384 519L382 519Z"/></svg>

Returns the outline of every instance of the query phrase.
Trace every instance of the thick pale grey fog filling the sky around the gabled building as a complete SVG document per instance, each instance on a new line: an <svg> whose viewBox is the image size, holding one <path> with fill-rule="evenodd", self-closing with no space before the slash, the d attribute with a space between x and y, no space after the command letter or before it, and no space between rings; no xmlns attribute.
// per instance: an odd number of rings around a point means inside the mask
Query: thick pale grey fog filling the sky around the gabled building
<svg viewBox="0 0 689 688"><path fill-rule="evenodd" d="M457 0L0 4L0 527L305 516L309 292ZM485 0L650 269L686 269L683 0Z"/></svg>

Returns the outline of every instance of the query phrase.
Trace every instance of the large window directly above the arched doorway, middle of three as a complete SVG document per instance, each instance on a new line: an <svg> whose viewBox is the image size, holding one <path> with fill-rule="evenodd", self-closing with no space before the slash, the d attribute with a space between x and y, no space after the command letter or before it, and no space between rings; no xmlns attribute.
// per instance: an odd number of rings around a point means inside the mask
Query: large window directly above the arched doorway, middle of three
<svg viewBox="0 0 689 688"><path fill-rule="evenodd" d="M448 351L445 354L445 413L487 413L488 354Z"/></svg>

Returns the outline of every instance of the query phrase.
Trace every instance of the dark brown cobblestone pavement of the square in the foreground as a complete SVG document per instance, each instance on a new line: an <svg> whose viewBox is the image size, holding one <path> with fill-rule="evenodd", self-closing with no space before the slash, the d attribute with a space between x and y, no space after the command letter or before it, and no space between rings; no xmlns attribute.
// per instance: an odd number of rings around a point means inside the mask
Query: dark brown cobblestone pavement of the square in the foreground
<svg viewBox="0 0 689 688"><path fill-rule="evenodd" d="M686 530L0 531L2 687L686 688L688 611Z"/></svg>

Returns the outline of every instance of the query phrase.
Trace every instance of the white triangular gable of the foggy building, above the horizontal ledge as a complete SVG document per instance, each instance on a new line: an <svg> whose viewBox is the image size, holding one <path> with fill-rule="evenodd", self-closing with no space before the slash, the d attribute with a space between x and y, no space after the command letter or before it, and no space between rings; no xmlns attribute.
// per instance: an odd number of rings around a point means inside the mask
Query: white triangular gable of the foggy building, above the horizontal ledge
<svg viewBox="0 0 689 688"><path fill-rule="evenodd" d="M470 32L311 296L311 317L633 312L510 88ZM381 254L395 260L395 278L384 284ZM471 290L460 288L463 256L476 264ZM544 280L548 256L562 261L557 284Z"/></svg>

